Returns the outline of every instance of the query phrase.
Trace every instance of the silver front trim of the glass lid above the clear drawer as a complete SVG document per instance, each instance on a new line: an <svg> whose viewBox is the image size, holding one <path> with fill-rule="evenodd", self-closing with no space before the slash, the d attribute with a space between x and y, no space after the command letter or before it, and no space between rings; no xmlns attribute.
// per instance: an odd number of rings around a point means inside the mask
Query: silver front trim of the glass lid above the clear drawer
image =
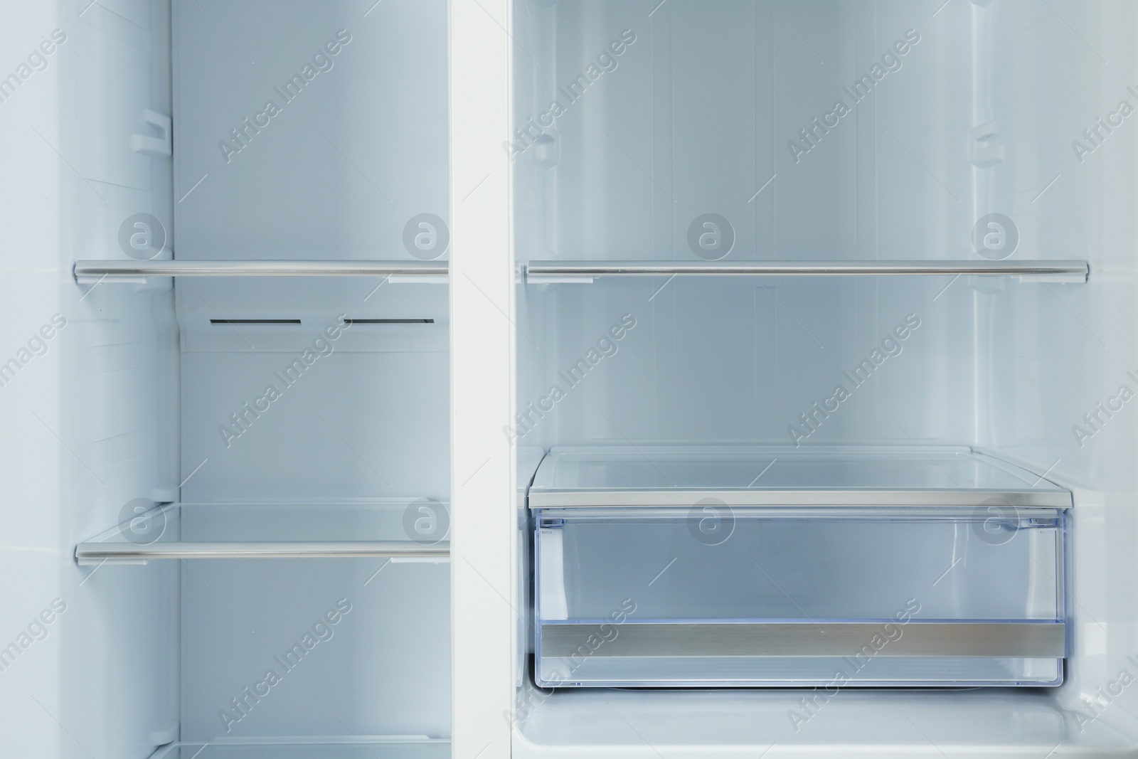
<svg viewBox="0 0 1138 759"><path fill-rule="evenodd" d="M890 490L890 489L636 489L538 490L530 488L530 509L595 509L611 506L693 506L715 498L726 506L982 506L1070 509L1069 490Z"/></svg>

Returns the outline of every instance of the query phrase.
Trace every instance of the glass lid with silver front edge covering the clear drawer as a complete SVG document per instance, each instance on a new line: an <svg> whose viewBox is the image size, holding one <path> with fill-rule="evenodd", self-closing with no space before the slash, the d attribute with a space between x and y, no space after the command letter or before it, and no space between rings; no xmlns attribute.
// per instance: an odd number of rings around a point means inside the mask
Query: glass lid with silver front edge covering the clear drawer
<svg viewBox="0 0 1138 759"><path fill-rule="evenodd" d="M1046 506L1071 493L967 447L592 446L553 448L530 509L691 506Z"/></svg>

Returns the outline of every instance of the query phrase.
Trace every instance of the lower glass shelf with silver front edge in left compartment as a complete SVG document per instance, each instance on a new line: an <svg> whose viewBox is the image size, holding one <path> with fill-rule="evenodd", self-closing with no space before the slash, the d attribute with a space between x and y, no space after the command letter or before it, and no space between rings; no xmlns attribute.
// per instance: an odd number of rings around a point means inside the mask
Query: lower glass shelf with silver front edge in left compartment
<svg viewBox="0 0 1138 759"><path fill-rule="evenodd" d="M80 543L81 564L152 559L380 556L448 561L448 504L429 498L353 503L172 503L124 513Z"/></svg>

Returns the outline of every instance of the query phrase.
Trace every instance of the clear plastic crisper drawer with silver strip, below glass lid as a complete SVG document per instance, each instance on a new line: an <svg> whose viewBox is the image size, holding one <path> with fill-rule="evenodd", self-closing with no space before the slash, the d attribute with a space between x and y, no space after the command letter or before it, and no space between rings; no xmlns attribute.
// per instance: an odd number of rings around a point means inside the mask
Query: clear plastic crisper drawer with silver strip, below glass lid
<svg viewBox="0 0 1138 759"><path fill-rule="evenodd" d="M1057 685L1064 511L535 509L536 682Z"/></svg>

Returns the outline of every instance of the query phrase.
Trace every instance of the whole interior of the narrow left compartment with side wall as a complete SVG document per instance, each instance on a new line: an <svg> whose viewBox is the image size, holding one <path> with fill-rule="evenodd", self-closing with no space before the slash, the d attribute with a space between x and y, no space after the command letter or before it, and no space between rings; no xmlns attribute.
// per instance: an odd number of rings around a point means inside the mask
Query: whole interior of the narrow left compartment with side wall
<svg viewBox="0 0 1138 759"><path fill-rule="evenodd" d="M2 662L5 751L450 756L447 553L376 555L445 545L448 288L72 275L445 263L446 3L34 5L19 28L65 40L5 129L31 165L60 159L11 206L48 239L3 278L9 341L43 336L2 398L28 432L5 436L6 614L34 638L13 628ZM108 528L118 548L325 551L76 563Z"/></svg>

